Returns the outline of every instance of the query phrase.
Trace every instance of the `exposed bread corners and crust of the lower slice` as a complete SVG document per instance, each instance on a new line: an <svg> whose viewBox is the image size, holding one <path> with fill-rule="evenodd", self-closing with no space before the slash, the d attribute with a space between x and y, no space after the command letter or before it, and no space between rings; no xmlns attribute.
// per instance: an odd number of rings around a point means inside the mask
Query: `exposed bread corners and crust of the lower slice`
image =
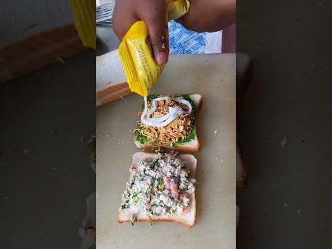
<svg viewBox="0 0 332 249"><path fill-rule="evenodd" d="M145 158L151 158L156 156L155 153L147 153L147 152L137 152L133 154L133 163L131 165L131 169L129 172L130 178L135 174L135 170L138 167L138 163L140 160L144 160ZM197 159L190 154L179 154L178 158L187 162L188 167L190 168L190 178L195 178L196 176L196 166ZM189 194L189 207L186 210L183 210L181 215L163 215L163 216L147 216L146 214L137 214L136 221L176 221L178 223L182 223L186 225L188 228L191 228L196 220L196 199L195 192L193 194ZM118 223L129 222L131 220L132 215L134 214L133 210L130 208L126 210L120 210L118 214Z"/></svg>

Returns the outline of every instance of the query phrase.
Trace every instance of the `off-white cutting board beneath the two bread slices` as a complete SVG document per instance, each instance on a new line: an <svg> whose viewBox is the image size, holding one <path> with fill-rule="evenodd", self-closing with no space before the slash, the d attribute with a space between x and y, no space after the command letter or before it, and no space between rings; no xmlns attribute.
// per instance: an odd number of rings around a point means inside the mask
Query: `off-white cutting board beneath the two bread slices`
<svg viewBox="0 0 332 249"><path fill-rule="evenodd" d="M118 208L129 178L131 156L139 151L131 130L142 98L136 94L97 110L97 248L234 249L235 55L172 56L153 93L201 93L198 134L201 151L196 185L196 223L118 224Z"/></svg>

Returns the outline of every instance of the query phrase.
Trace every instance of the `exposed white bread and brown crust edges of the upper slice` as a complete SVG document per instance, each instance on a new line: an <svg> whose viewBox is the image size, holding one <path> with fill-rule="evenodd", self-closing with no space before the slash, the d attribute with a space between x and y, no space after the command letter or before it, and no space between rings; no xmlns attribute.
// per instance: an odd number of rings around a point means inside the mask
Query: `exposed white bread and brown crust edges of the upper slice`
<svg viewBox="0 0 332 249"><path fill-rule="evenodd" d="M199 145L199 138L197 136L197 120L199 117L199 111L201 110L201 107L203 105L203 97L201 94L190 94L190 98L196 104L196 117L195 117L196 120L195 120L195 124L194 124L194 128L196 129L196 135L195 135L194 140L191 140L190 142L185 142L182 145L176 145L176 147L173 147L173 146L170 146L167 144L154 144L154 145L151 145L149 143L141 144L140 142L138 142L137 140L134 139L133 142L135 143L135 145L138 148L164 147L167 149L176 149L176 150L181 150L181 151L199 151L201 146Z"/></svg>

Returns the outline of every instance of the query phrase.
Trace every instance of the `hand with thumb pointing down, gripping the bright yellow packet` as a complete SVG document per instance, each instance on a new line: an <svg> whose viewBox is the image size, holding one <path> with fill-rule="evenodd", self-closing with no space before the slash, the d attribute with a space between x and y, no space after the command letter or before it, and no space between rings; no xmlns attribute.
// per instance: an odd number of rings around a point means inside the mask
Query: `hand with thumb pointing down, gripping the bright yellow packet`
<svg viewBox="0 0 332 249"><path fill-rule="evenodd" d="M136 21L145 21L149 38L158 65L168 60L169 46L166 39L165 0L118 0L114 9L113 29L120 41Z"/></svg>

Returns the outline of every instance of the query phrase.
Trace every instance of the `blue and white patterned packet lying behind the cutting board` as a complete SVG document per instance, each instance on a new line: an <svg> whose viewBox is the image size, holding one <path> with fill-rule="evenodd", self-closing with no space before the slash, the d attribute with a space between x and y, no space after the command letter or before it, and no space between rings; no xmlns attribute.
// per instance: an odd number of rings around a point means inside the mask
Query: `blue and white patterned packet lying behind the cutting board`
<svg viewBox="0 0 332 249"><path fill-rule="evenodd" d="M171 55L221 53L222 31L196 33L172 20L168 23Z"/></svg>

